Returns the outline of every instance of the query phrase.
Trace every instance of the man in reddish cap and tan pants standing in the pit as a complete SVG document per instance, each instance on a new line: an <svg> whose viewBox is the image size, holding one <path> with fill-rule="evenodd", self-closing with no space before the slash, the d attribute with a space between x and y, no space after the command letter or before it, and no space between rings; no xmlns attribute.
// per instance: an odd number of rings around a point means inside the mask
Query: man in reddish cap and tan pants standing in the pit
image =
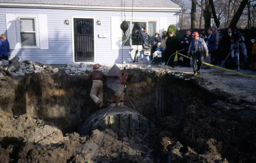
<svg viewBox="0 0 256 163"><path fill-rule="evenodd" d="M90 91L90 97L93 99L96 106L101 108L103 106L103 81L106 81L107 77L98 69L98 65L93 65L94 71L87 76L87 79L93 81L93 85Z"/></svg>

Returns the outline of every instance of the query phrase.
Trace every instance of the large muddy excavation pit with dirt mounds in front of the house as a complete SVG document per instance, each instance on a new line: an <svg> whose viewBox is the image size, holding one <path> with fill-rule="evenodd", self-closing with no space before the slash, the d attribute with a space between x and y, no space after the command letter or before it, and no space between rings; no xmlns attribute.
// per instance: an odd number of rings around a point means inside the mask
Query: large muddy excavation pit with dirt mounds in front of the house
<svg viewBox="0 0 256 163"><path fill-rule="evenodd" d="M0 150L23 162L40 156L52 162L256 161L255 105L209 91L189 74L134 72L122 96L119 79L108 77L109 107L101 110L84 76L32 73L1 80ZM113 107L117 102L123 105Z"/></svg>

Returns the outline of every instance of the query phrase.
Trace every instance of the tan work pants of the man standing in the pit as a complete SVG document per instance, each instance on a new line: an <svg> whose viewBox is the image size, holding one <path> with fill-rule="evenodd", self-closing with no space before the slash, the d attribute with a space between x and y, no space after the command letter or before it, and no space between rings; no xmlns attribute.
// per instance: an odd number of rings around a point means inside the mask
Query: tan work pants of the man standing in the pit
<svg viewBox="0 0 256 163"><path fill-rule="evenodd" d="M103 106L103 82L102 80L93 80L90 97L100 108Z"/></svg>

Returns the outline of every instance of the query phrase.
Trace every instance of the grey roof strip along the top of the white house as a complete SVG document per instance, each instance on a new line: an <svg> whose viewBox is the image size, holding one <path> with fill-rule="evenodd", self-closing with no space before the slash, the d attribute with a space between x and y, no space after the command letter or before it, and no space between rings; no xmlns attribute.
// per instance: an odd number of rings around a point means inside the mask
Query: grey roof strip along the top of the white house
<svg viewBox="0 0 256 163"><path fill-rule="evenodd" d="M13 4L79 5L104 7L179 7L171 0L0 0ZM121 4L122 3L122 4Z"/></svg>

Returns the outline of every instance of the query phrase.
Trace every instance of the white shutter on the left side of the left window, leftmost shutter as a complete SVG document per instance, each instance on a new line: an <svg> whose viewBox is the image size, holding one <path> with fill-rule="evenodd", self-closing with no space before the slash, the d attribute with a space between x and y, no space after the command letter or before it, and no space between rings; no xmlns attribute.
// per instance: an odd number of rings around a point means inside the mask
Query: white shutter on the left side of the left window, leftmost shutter
<svg viewBox="0 0 256 163"><path fill-rule="evenodd" d="M17 49L16 25L14 14L6 14L6 29L10 49Z"/></svg>

